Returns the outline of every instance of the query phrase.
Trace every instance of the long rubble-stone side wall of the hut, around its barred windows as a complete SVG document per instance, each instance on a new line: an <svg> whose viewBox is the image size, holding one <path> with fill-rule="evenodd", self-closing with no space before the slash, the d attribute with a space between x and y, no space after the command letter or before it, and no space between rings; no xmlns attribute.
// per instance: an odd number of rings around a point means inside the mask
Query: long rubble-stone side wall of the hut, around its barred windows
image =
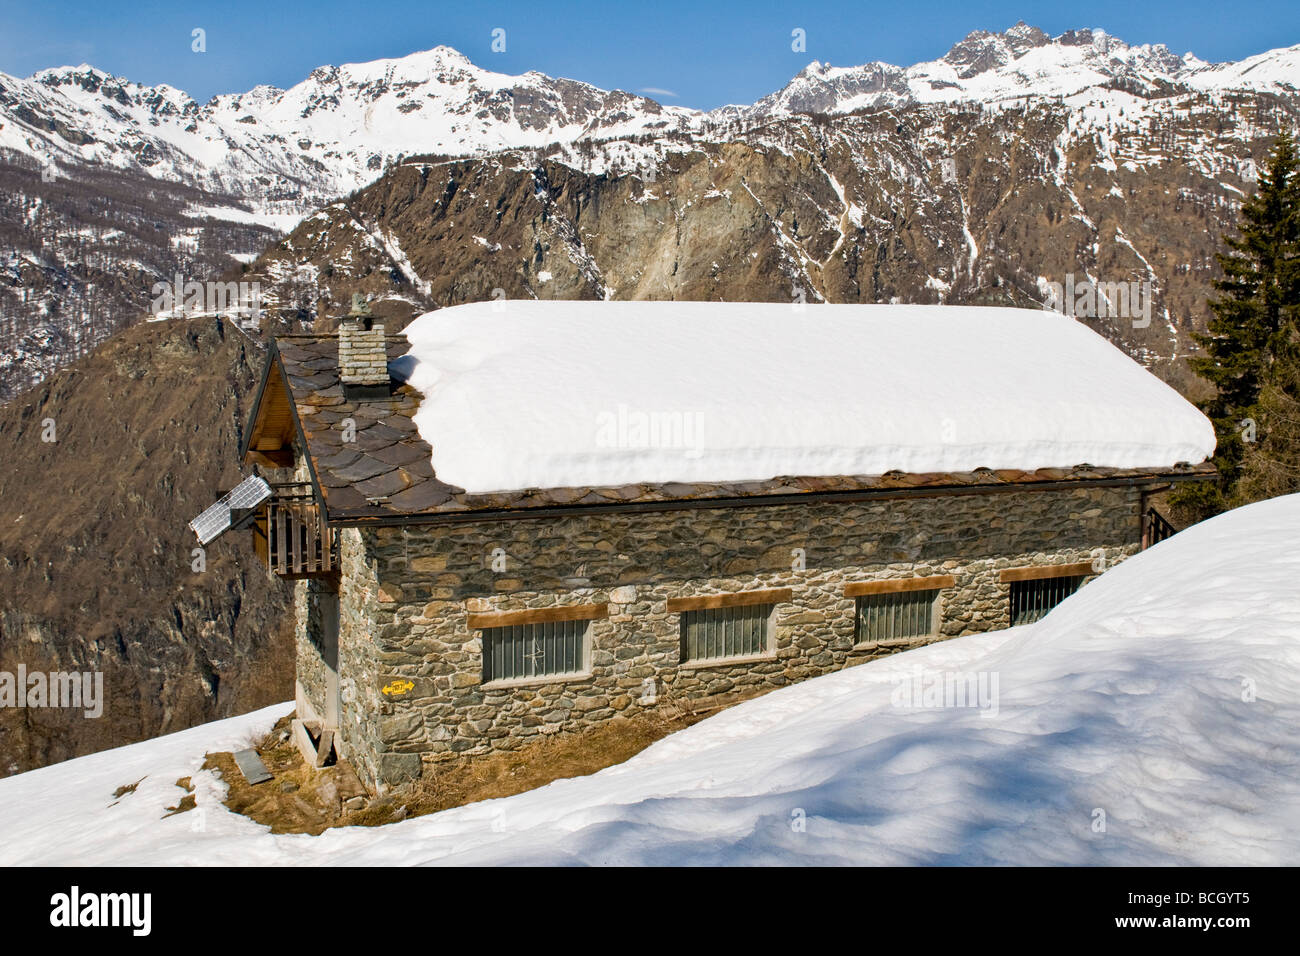
<svg viewBox="0 0 1300 956"><path fill-rule="evenodd" d="M1109 567L1138 550L1139 515L1135 488L1065 488L347 529L342 745L372 786L400 783L447 754L893 653L854 645L855 602L844 596L853 581L953 575L928 640L1006 627L1010 585L998 571ZM776 606L770 656L679 661L668 598L767 588L793 589ZM588 676L482 684L482 632L469 613L606 602L608 617L590 623ZM309 658L309 640L299 652ZM311 680L309 659L299 669Z"/></svg>

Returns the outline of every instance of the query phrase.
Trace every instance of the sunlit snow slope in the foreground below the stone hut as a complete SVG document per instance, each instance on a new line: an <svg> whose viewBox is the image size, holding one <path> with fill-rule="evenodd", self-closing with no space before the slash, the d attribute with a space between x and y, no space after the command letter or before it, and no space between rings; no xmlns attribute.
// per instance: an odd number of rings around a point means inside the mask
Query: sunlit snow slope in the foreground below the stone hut
<svg viewBox="0 0 1300 956"><path fill-rule="evenodd" d="M1297 529L1300 496L1252 505L1037 624L807 680L599 774L380 829L273 836L221 806L202 753L289 710L269 708L0 780L0 864L1296 865ZM997 676L996 708L902 695L979 672ZM191 774L199 810L162 818Z"/></svg>

